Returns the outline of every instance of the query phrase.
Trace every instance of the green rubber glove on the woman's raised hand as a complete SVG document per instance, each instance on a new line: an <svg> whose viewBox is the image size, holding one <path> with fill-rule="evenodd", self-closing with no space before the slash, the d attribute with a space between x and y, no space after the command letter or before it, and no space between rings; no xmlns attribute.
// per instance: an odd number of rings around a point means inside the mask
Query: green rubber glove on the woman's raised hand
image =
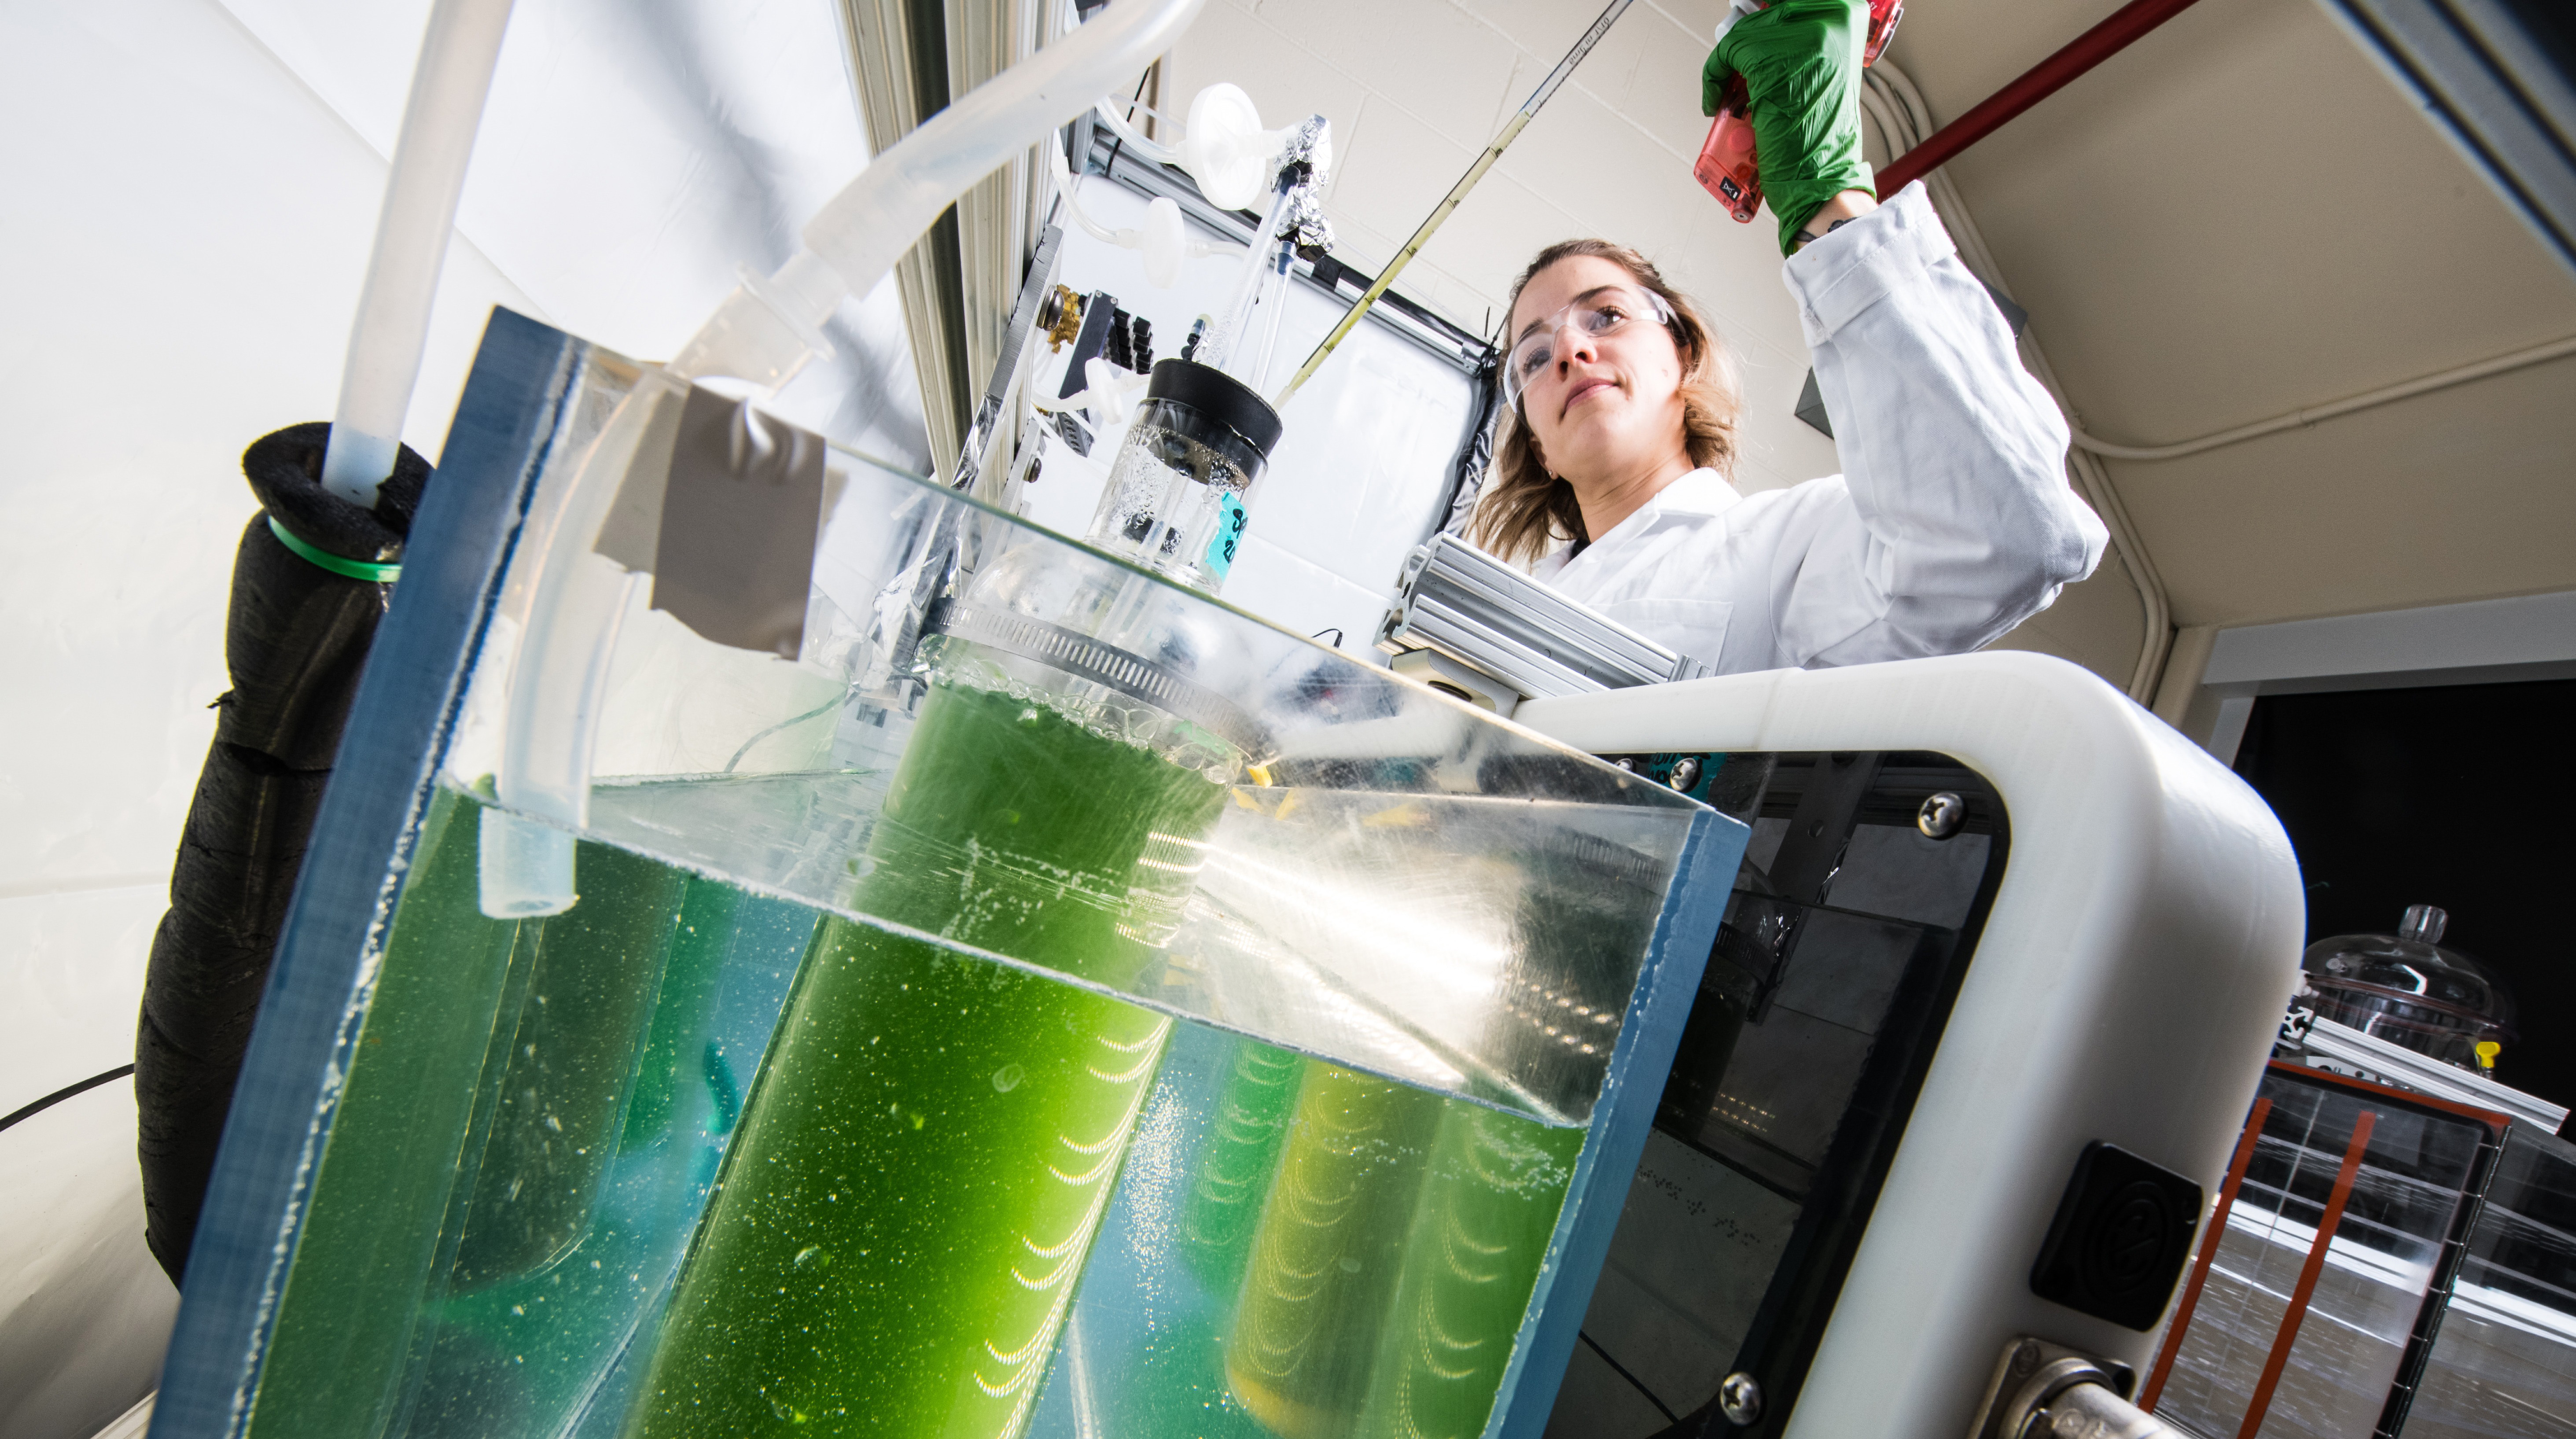
<svg viewBox="0 0 2576 1439"><path fill-rule="evenodd" d="M1700 67L1700 113L1718 113L1726 80L1744 75L1762 198L1780 216L1780 255L1806 216L1842 190L1870 190L1860 157L1862 0L1777 0L1736 21Z"/></svg>

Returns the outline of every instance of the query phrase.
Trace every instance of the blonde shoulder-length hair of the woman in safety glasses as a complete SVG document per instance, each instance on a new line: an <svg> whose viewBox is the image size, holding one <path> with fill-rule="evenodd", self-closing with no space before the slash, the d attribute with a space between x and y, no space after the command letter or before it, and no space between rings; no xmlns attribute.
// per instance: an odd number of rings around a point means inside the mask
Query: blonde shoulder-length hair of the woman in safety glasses
<svg viewBox="0 0 2576 1439"><path fill-rule="evenodd" d="M1504 306L1504 314L1520 304L1520 291L1530 288L1530 281L1540 270L1577 255L1610 260L1672 306L1667 330L1682 353L1682 445L1690 450L1690 463L1734 476L1736 417L1744 409L1744 394L1736 386L1736 355L1726 348L1716 327L1700 317L1700 306L1664 283L1654 260L1607 239L1558 239L1540 250L1530 260L1530 268L1512 281L1512 304ZM1548 471L1546 456L1538 453L1538 435L1520 417L1520 407L1512 407L1502 417L1494 469L1486 476L1484 494L1476 497L1476 517L1468 523L1468 538L1476 541L1476 548L1512 564L1535 561L1558 541L1592 538L1584 533L1584 510L1574 502L1574 487Z"/></svg>

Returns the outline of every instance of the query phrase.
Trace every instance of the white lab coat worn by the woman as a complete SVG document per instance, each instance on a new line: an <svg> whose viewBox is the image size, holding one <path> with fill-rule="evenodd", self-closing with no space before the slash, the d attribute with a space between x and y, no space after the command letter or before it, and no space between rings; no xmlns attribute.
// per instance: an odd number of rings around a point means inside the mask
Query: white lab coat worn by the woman
<svg viewBox="0 0 2576 1439"><path fill-rule="evenodd" d="M1734 674L1960 654L2092 574L2066 420L1919 183L1783 275L1844 474L1747 497L1692 471L1538 579Z"/></svg>

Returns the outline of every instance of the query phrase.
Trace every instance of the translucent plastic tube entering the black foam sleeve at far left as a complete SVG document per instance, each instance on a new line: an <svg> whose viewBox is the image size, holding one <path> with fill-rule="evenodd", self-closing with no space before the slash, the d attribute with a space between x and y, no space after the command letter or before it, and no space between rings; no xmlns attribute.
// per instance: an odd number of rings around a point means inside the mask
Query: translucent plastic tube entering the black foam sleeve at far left
<svg viewBox="0 0 2576 1439"><path fill-rule="evenodd" d="M438 296L438 265L456 229L456 193L466 183L507 28L510 0L438 0L430 8L394 167L384 180L376 255L348 332L340 412L322 450L322 489L350 505L374 505L376 487L394 474L402 414L412 407L420 345L430 332L430 299Z"/></svg>

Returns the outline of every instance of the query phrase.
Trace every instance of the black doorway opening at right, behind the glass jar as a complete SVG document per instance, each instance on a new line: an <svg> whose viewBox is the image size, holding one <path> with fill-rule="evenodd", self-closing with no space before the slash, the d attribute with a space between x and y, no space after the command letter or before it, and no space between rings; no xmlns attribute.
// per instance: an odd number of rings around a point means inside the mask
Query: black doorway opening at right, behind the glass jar
<svg viewBox="0 0 2576 1439"><path fill-rule="evenodd" d="M2254 700L2236 772L2280 816L2308 886L2308 940L2388 934L2450 911L2445 947L2522 1009L2496 1079L2576 1107L2576 680Z"/></svg>

